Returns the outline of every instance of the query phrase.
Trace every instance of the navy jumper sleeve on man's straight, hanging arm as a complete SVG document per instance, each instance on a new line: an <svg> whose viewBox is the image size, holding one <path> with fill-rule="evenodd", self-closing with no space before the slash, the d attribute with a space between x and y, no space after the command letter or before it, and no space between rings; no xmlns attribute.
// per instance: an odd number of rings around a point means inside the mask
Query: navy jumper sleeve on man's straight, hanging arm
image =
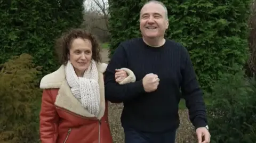
<svg viewBox="0 0 256 143"><path fill-rule="evenodd" d="M189 110L189 119L197 129L207 125L206 108L203 100L203 92L199 88L199 83L196 79L196 73L190 60L189 53L186 48L184 49L185 56L183 57L185 57L185 64L183 64L181 70L181 91Z"/></svg>

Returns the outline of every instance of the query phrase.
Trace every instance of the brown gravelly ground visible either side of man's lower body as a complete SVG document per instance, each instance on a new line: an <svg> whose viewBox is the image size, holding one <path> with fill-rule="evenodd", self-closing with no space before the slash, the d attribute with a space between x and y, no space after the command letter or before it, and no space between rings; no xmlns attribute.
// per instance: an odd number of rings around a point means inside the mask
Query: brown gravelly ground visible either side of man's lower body
<svg viewBox="0 0 256 143"><path fill-rule="evenodd" d="M114 143L123 143L124 142L124 131L121 126L120 117L123 109L123 104L109 104L109 122L111 133L114 139ZM196 143L195 130L193 125L188 119L187 110L180 110L180 128L178 129L176 142L177 143Z"/></svg>

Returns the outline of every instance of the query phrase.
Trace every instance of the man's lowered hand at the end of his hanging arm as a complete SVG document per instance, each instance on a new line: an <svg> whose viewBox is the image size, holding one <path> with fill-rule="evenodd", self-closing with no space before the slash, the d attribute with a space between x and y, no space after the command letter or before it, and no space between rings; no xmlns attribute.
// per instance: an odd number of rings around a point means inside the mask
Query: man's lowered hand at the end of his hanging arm
<svg viewBox="0 0 256 143"><path fill-rule="evenodd" d="M210 143L211 135L210 132L205 127L197 128L196 134L198 143Z"/></svg>

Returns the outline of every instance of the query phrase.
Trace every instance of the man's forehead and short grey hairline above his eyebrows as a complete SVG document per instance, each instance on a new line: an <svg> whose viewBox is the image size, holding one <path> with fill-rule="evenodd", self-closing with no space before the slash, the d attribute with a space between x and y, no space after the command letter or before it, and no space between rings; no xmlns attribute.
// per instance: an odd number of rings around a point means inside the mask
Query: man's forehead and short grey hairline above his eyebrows
<svg viewBox="0 0 256 143"><path fill-rule="evenodd" d="M161 4L157 3L148 3L144 5L140 11L140 14L145 14L145 13L159 13L162 14L164 13L164 7Z"/></svg>

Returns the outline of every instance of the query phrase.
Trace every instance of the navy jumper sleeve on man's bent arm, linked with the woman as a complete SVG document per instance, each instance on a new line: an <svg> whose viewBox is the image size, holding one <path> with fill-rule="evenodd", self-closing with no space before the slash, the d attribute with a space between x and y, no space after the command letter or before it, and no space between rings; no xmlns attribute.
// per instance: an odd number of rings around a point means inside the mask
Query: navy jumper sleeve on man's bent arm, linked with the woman
<svg viewBox="0 0 256 143"><path fill-rule="evenodd" d="M122 68L127 68L127 55L121 44L113 54L105 72L105 98L113 103L131 100L145 92L142 79L121 85L115 81L115 70Z"/></svg>

